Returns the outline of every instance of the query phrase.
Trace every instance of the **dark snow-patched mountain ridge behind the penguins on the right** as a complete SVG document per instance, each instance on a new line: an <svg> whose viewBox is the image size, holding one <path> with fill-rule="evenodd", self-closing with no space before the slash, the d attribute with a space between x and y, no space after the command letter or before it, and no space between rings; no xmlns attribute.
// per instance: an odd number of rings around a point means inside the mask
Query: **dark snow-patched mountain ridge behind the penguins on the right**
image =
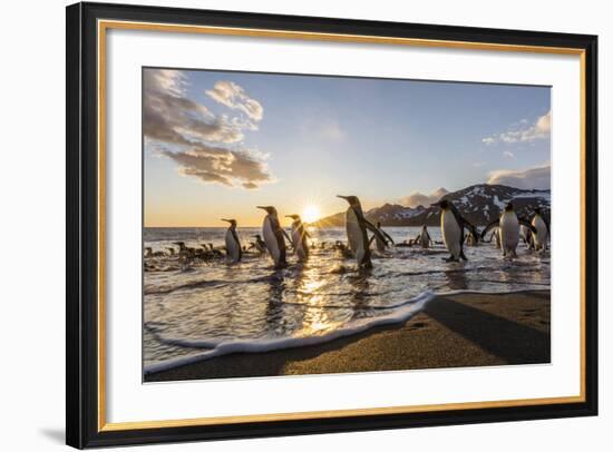
<svg viewBox="0 0 613 452"><path fill-rule="evenodd" d="M508 202L513 202L518 215L526 217L532 216L532 209L535 207L541 207L546 213L551 207L551 190L526 190L505 185L473 185L448 193L442 198L449 199L466 219L480 226L498 218ZM430 206L405 207L399 204L385 204L366 212L366 217L372 223L381 222L383 226L440 224L439 208ZM313 225L318 227L343 226L344 212L322 218Z"/></svg>

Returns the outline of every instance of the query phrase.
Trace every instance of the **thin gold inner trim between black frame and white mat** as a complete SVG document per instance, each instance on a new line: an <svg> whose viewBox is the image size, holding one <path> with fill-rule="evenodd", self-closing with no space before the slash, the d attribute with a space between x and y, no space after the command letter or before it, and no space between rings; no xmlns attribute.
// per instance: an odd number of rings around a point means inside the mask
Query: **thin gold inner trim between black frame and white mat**
<svg viewBox="0 0 613 452"><path fill-rule="evenodd" d="M204 33L216 36L243 36L272 39L295 39L310 41L357 42L395 46L413 46L447 49L468 49L486 51L512 51L571 55L580 57L581 71L581 238L585 244L585 50L563 47L516 46L489 42L445 41L435 39L395 38L381 36L340 35L253 28L182 26L155 22L134 22L120 20L99 20L97 23L98 46L98 432L116 432L139 429L159 429L197 425L237 424L243 422L299 421L349 416L374 416L381 414L406 414L436 412L442 410L474 410L490 407L528 406L562 403L582 403L585 394L585 246L581 247L581 301L580 301L580 379L578 395L541 399L518 399L505 401L484 401L465 403L442 403L428 405L388 406L354 410L309 411L298 413L247 414L236 416L195 417L163 421L106 422L106 373L105 373L105 212L106 212L106 31L108 29L147 30L179 33Z"/></svg>

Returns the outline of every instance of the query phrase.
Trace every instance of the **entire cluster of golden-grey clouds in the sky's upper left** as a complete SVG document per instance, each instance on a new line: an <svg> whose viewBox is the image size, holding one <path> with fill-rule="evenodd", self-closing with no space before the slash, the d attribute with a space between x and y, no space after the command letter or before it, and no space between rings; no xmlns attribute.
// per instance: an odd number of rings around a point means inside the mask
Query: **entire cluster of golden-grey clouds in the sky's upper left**
<svg viewBox="0 0 613 452"><path fill-rule="evenodd" d="M243 130L256 130L244 118L214 115L206 106L187 97L188 77L177 70L147 69L144 72L143 132L146 146L178 165L183 176L204 183L255 189L270 183L266 157L228 145L244 138ZM262 119L263 108L231 83L252 119ZM215 83L217 88L218 82ZM223 90L222 90L223 91ZM241 97L242 96L242 97ZM234 145L236 147L236 145Z"/></svg>

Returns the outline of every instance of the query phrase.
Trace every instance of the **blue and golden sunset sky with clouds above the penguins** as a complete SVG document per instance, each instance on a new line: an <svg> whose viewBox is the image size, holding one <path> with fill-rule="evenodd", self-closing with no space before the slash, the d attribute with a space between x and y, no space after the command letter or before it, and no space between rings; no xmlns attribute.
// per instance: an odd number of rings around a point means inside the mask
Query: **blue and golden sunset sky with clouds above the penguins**
<svg viewBox="0 0 613 452"><path fill-rule="evenodd" d="M147 227L549 188L549 87L144 68L143 134Z"/></svg>

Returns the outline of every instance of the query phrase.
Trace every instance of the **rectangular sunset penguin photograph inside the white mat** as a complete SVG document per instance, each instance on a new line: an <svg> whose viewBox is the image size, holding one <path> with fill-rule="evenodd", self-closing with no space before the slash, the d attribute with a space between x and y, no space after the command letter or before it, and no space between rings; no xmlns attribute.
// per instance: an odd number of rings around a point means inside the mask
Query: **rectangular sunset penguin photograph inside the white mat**
<svg viewBox="0 0 613 452"><path fill-rule="evenodd" d="M551 86L142 80L145 383L551 362Z"/></svg>

